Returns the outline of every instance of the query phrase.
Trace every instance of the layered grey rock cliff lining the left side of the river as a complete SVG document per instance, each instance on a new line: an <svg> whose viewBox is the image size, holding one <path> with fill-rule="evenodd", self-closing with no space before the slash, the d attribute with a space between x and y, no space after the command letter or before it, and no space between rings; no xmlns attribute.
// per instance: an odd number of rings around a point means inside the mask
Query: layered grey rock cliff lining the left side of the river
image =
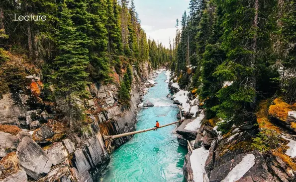
<svg viewBox="0 0 296 182"><path fill-rule="evenodd" d="M105 141L103 135L135 130L138 104L145 94L148 65L141 76L134 73L130 107L118 103L119 84L91 84L89 99L81 102L88 122L80 132L68 132L60 101L43 99L43 84L38 76L27 76L26 91L10 90L0 99L0 163L13 156L16 165L0 168L0 182L31 179L38 182L97 182L109 161L109 153L131 136ZM118 75L114 75L119 81ZM5 127L1 127L5 126ZM10 164L10 163L9 163Z"/></svg>

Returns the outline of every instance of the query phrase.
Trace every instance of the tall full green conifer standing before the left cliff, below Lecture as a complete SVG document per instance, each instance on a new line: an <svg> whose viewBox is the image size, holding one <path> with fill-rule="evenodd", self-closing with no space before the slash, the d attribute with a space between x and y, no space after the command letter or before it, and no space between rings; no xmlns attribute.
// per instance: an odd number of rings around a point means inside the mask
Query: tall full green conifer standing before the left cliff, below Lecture
<svg viewBox="0 0 296 182"><path fill-rule="evenodd" d="M86 68L89 64L89 51L87 49L90 39L78 31L72 21L73 14L66 4L60 4L60 27L57 33L56 44L59 51L53 64L54 73L51 75L54 83L54 93L62 98L68 107L70 129L77 127L81 120L75 98L86 96L85 88L88 84L89 74Z"/></svg>

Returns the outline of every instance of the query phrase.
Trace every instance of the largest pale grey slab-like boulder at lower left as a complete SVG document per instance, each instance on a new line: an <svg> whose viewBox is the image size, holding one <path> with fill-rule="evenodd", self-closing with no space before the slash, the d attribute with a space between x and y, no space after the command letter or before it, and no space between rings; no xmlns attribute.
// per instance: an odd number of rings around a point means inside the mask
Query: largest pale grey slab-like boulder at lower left
<svg viewBox="0 0 296 182"><path fill-rule="evenodd" d="M51 168L52 161L42 148L31 138L25 136L16 149L19 164L26 174L35 180L46 175Z"/></svg>

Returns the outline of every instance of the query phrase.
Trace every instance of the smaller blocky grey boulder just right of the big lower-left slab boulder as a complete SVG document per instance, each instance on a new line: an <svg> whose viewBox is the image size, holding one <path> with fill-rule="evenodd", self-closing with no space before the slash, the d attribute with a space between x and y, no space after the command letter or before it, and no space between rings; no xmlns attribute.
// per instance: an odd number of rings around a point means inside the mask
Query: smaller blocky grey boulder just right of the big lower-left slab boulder
<svg viewBox="0 0 296 182"><path fill-rule="evenodd" d="M54 143L53 146L47 149L46 152L48 157L51 159L52 164L55 166L63 162L68 157L66 147L62 142Z"/></svg>

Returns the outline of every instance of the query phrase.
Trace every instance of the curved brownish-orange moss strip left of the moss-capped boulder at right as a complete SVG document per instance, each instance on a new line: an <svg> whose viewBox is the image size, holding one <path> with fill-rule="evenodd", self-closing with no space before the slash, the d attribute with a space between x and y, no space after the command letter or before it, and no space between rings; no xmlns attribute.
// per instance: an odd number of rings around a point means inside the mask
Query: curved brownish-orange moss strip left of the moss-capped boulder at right
<svg viewBox="0 0 296 182"><path fill-rule="evenodd" d="M273 129L278 133L281 133L281 129L270 122L268 118L268 111L269 111L268 107L269 107L268 100L263 100L259 103L259 106L256 112L257 122L259 124L259 127Z"/></svg>

